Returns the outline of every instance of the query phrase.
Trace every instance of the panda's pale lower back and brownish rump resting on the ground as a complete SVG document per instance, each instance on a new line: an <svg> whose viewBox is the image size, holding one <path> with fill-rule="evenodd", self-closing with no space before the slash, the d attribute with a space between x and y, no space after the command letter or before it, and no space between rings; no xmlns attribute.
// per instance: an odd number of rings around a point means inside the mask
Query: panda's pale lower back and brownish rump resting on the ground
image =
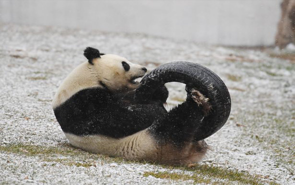
<svg viewBox="0 0 295 185"><path fill-rule="evenodd" d="M116 139L104 135L78 136L64 133L69 142L83 150L130 160L157 161L165 164L189 164L200 161L207 147L204 141L185 145L181 150L173 144L159 145L146 129ZM196 152L197 151L197 152Z"/></svg>

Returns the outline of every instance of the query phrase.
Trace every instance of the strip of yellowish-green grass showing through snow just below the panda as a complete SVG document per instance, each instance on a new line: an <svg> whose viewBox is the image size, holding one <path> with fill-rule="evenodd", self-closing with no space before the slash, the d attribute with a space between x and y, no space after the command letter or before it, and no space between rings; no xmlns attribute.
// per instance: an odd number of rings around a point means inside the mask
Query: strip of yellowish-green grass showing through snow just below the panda
<svg viewBox="0 0 295 185"><path fill-rule="evenodd" d="M132 161L124 160L120 157L108 157L105 155L89 153L77 148L72 147L70 144L64 143L58 145L57 147L44 147L36 145L24 145L11 144L0 146L1 152L16 153L26 156L36 156L39 157L41 161L49 162L43 163L43 166L47 165L69 165L77 167L90 167L96 165L103 165L104 163L116 162L118 164L126 163L150 163L147 161ZM60 155L63 157L60 158ZM191 167L187 166L170 166L170 165L160 165L153 163L155 165L161 166L166 169L180 169L183 173L174 172L144 172L143 176L154 176L156 178L166 178L171 180L193 180L194 183L217 183L217 182L233 182L236 181L239 184L262 184L263 181L257 176L250 175L247 172L240 172L237 170L226 169L224 167L218 167L213 165L193 165ZM184 171L192 171L193 175L184 174ZM274 183L274 182L272 182ZM230 184L230 183L228 183ZM275 184L275 183L274 183Z"/></svg>

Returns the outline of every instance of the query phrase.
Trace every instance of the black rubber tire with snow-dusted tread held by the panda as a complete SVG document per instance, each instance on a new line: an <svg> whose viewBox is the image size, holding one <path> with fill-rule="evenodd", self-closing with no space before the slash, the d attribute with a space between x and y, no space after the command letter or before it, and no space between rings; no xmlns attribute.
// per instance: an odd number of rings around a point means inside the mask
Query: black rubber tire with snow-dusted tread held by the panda
<svg viewBox="0 0 295 185"><path fill-rule="evenodd" d="M148 103L155 89L171 81L185 83L186 88L195 88L209 98L211 111L200 123L194 140L212 135L225 124L231 106L228 89L217 74L197 63L174 61L158 66L142 78L135 98Z"/></svg>

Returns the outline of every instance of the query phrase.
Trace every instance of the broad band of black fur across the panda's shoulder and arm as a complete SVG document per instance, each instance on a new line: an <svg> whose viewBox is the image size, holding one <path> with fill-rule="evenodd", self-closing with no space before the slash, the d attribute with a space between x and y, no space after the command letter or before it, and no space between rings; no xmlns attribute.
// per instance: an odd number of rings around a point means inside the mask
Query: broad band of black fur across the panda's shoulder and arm
<svg viewBox="0 0 295 185"><path fill-rule="evenodd" d="M154 104L137 104L131 96L112 94L106 87L83 89L54 113L64 132L120 138L147 128L166 112L156 100Z"/></svg>

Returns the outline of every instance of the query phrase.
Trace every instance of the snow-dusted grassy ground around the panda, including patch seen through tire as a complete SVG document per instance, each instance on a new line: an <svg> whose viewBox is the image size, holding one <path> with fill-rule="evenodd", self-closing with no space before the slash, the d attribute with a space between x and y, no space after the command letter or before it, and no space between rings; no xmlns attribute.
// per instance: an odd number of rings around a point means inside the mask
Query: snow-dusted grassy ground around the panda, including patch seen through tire
<svg viewBox="0 0 295 185"><path fill-rule="evenodd" d="M205 140L196 165L127 161L72 147L52 108L86 46L149 70L197 62L217 73L232 99L227 123ZM0 184L294 184L295 54L276 49L204 46L145 34L42 26L0 26ZM168 107L185 98L168 83Z"/></svg>

